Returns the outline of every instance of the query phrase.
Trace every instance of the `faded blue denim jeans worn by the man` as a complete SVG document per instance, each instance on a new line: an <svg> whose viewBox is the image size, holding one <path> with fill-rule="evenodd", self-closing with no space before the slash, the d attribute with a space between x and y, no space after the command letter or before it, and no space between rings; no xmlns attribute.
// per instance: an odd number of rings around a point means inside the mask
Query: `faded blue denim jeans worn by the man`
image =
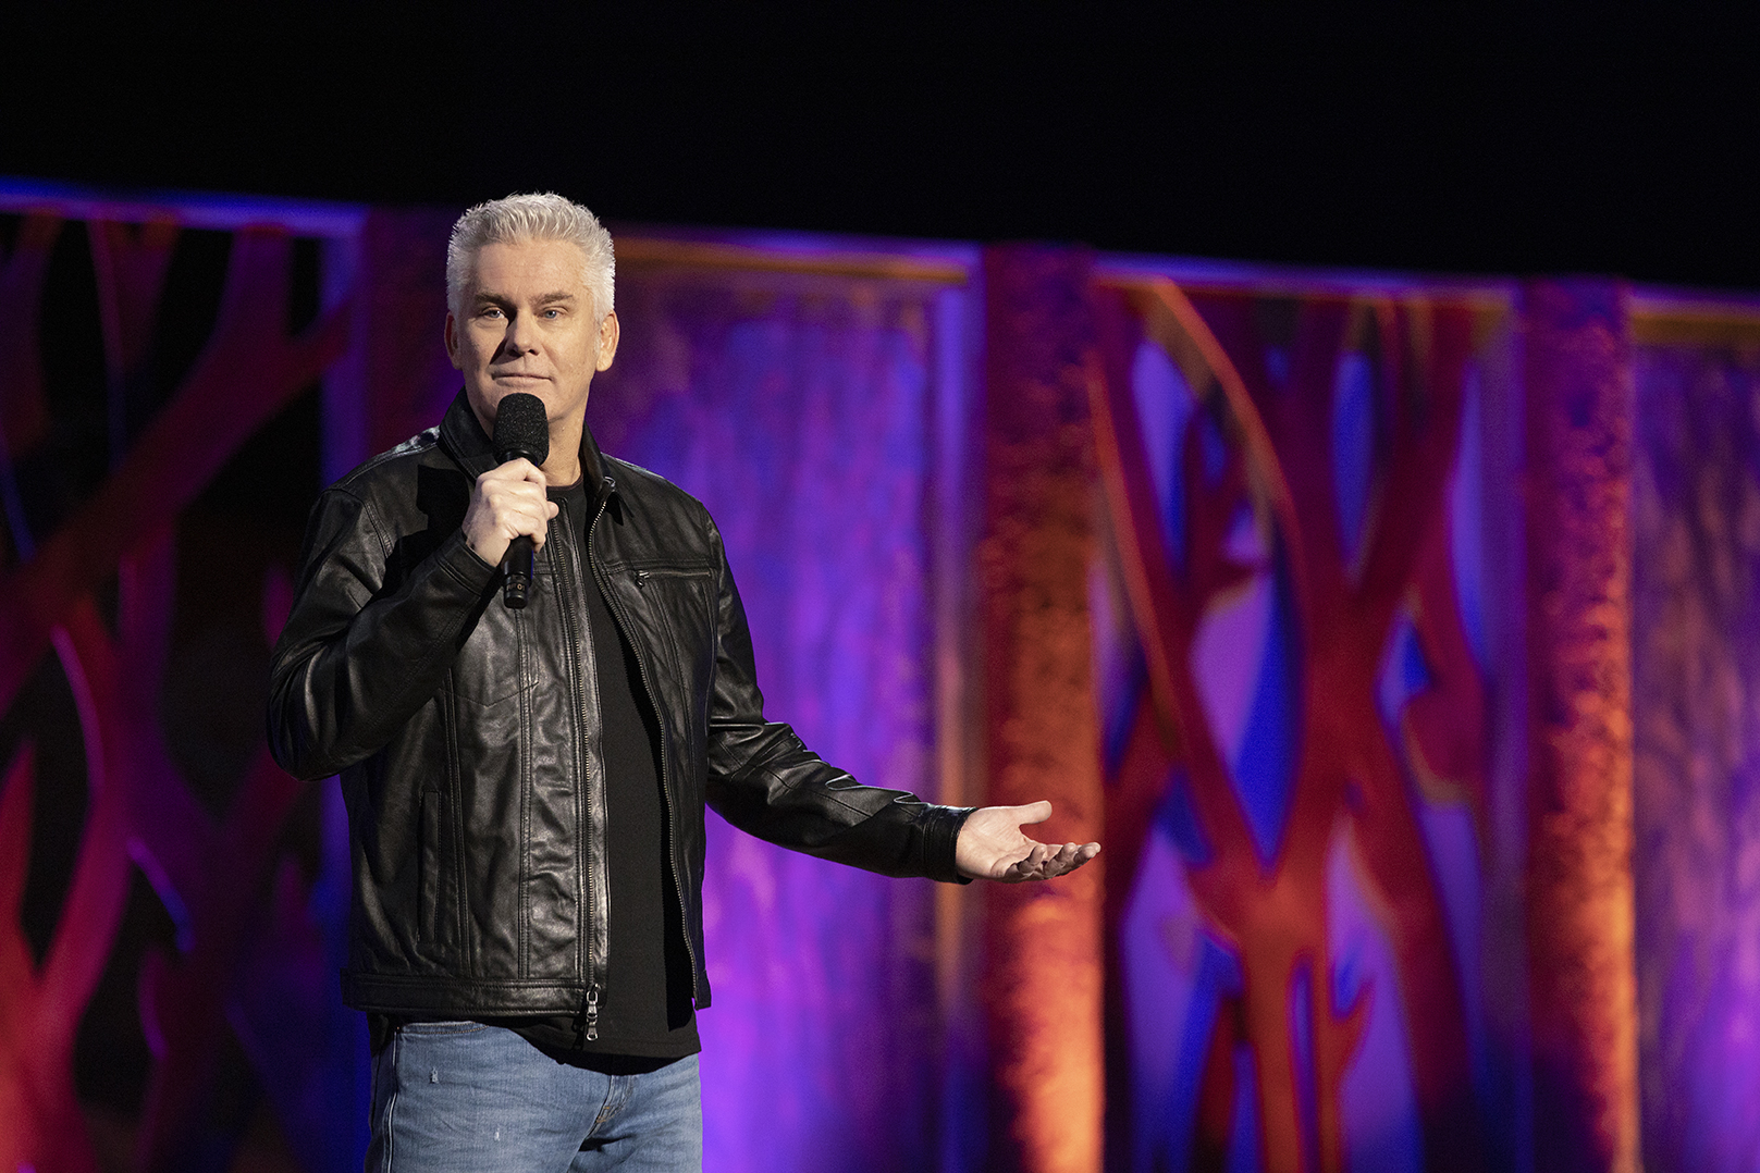
<svg viewBox="0 0 1760 1173"><path fill-rule="evenodd" d="M600 1075L560 1064L503 1027L407 1024L373 1059L366 1169L697 1173L697 1057L646 1075Z"/></svg>

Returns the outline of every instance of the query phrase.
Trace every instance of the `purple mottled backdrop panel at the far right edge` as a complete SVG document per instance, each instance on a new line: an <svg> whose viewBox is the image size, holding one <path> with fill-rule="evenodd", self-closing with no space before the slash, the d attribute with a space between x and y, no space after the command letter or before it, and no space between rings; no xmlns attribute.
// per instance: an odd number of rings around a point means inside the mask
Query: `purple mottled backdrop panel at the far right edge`
<svg viewBox="0 0 1760 1173"><path fill-rule="evenodd" d="M1760 1164L1760 348L1635 353L1644 1166Z"/></svg>

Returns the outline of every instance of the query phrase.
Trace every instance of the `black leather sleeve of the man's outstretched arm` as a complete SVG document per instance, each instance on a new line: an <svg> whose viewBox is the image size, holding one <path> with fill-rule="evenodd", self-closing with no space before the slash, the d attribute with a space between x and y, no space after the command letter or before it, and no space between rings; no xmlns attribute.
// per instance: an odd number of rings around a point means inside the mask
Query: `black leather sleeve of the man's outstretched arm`
<svg viewBox="0 0 1760 1173"><path fill-rule="evenodd" d="M764 719L752 633L718 531L713 543L718 631L709 696L709 805L734 827L806 855L884 876L964 883L954 867L954 842L970 807L862 786L808 749L788 725Z"/></svg>

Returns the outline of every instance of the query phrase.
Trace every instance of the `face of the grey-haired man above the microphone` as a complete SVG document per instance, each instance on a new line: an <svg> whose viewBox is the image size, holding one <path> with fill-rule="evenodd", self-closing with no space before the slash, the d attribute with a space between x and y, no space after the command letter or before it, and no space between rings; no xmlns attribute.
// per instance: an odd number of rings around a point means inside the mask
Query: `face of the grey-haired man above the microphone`
<svg viewBox="0 0 1760 1173"><path fill-rule="evenodd" d="M445 315L445 348L484 431L495 434L496 404L517 390L542 399L554 426L583 417L593 373L618 352L618 315L593 320L576 244L486 244Z"/></svg>

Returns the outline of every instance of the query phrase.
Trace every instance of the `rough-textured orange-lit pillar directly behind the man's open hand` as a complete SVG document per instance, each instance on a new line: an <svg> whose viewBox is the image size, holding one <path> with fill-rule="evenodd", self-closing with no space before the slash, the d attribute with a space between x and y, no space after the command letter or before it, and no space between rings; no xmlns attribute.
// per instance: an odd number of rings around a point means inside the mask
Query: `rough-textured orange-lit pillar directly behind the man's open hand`
<svg viewBox="0 0 1760 1173"><path fill-rule="evenodd" d="M1084 250L986 253L984 614L987 804L1049 798L1035 837L1102 839L1089 654L1091 378L1100 376ZM1102 1152L1100 883L986 892L984 999L993 1168L1079 1173Z"/></svg>

